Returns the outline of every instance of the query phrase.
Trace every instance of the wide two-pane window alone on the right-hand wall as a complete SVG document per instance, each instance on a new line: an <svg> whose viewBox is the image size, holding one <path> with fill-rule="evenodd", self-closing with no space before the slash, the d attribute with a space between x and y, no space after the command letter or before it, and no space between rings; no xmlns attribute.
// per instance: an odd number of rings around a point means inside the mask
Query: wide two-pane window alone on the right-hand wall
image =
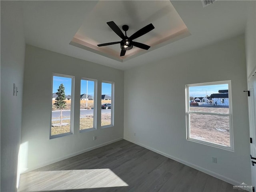
<svg viewBox="0 0 256 192"><path fill-rule="evenodd" d="M233 151L231 81L186 85L186 123L187 140Z"/></svg>

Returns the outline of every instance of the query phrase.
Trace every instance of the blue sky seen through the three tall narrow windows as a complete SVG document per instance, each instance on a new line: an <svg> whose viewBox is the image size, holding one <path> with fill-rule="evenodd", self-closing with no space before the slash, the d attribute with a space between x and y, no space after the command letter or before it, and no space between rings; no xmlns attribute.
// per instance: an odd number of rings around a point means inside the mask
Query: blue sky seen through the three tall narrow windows
<svg viewBox="0 0 256 192"><path fill-rule="evenodd" d="M53 86L52 86L52 93L56 93L57 89L59 88L60 84L63 84L65 87L65 94L71 95L71 81L72 78L68 77L60 77L60 76L53 76ZM80 94L86 94L86 86L87 80L81 80L81 92ZM111 86L110 83L102 83L102 95L111 96ZM88 80L88 95L94 95L94 81Z"/></svg>

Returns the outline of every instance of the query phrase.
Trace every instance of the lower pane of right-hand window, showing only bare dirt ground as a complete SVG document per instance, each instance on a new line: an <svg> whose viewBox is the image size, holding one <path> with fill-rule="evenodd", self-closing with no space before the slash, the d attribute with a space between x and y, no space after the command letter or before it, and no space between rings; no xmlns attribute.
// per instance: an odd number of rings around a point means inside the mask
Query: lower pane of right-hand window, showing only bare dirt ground
<svg viewBox="0 0 256 192"><path fill-rule="evenodd" d="M229 116L190 114L190 138L230 146Z"/></svg>

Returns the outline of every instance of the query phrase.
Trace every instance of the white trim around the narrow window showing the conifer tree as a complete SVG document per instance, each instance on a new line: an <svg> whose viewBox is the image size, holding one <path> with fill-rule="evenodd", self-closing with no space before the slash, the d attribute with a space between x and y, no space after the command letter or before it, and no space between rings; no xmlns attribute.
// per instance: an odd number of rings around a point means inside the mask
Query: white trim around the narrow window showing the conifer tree
<svg viewBox="0 0 256 192"><path fill-rule="evenodd" d="M50 139L53 138L59 138L59 137L63 137L66 135L72 135L74 132L74 84L75 84L75 77L74 76L70 76L70 75L64 75L64 74L57 74L57 73L53 73L52 74L52 88L53 88L53 76L58 76L58 77L67 77L67 78L71 78L71 101L70 101L70 132L68 133L62 133L62 134L58 134L58 135L52 135L52 110L50 112ZM51 88L51 101L52 101L52 88Z"/></svg>

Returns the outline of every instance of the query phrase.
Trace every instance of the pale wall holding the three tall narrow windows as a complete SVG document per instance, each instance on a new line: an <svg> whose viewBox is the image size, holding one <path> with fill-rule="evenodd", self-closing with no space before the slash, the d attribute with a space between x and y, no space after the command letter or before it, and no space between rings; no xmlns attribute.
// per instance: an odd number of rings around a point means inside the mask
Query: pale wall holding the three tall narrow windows
<svg viewBox="0 0 256 192"><path fill-rule="evenodd" d="M52 73L75 76L74 134L49 139ZM98 80L97 130L79 132L80 78ZM114 126L100 128L101 81L114 82ZM34 46L26 46L22 138L22 171L65 159L123 138L124 72ZM93 140L93 136L97 136Z"/></svg>

